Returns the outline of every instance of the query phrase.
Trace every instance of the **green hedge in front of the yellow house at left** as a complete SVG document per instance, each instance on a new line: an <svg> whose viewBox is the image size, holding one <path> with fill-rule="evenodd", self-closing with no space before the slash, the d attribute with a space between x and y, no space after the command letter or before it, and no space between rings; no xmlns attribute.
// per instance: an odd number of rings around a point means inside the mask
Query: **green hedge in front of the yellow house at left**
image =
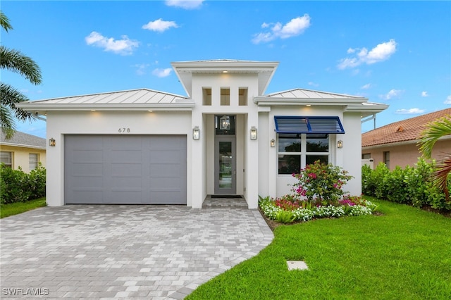
<svg viewBox="0 0 451 300"><path fill-rule="evenodd" d="M0 203L25 202L45 196L46 170L39 166L27 174L21 168L0 166Z"/></svg>

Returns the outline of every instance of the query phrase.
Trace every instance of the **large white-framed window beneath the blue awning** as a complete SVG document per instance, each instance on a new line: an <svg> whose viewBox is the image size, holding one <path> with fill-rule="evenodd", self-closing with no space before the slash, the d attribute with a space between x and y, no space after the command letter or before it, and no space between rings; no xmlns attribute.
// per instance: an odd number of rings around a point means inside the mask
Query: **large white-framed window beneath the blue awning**
<svg viewBox="0 0 451 300"><path fill-rule="evenodd" d="M278 173L299 173L305 165L329 163L329 135L278 135Z"/></svg>

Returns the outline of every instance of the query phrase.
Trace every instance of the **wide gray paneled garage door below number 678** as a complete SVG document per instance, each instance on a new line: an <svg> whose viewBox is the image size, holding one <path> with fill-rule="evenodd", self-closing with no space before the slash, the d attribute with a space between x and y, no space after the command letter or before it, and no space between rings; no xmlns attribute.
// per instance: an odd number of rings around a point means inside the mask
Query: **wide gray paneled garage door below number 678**
<svg viewBox="0 0 451 300"><path fill-rule="evenodd" d="M186 204L185 135L66 135L66 204Z"/></svg>

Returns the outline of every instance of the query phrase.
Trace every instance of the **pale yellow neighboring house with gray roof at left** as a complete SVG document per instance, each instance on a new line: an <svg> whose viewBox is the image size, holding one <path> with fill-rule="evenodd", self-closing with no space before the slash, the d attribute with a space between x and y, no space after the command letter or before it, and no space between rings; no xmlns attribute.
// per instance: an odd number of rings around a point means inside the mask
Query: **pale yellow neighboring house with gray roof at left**
<svg viewBox="0 0 451 300"><path fill-rule="evenodd" d="M0 162L9 168L20 167L24 172L29 173L39 163L45 166L45 149L46 139L42 137L16 131L11 139L5 139L4 132L1 132Z"/></svg>

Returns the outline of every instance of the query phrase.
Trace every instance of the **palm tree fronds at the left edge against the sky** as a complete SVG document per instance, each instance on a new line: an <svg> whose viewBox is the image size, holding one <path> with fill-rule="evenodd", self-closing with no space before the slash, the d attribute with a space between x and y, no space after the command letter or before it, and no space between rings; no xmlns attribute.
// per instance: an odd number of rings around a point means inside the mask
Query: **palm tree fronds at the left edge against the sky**
<svg viewBox="0 0 451 300"><path fill-rule="evenodd" d="M13 29L9 19L2 11L0 11L0 26L6 32ZM19 73L34 85L39 85L42 81L39 65L32 58L25 56L20 51L8 49L3 45L0 45L0 68ZM15 132L14 117L22 121L31 121L35 117L32 113L16 107L16 103L28 101L28 98L11 85L0 82L0 95L0 126L6 135L6 139L10 139Z"/></svg>

